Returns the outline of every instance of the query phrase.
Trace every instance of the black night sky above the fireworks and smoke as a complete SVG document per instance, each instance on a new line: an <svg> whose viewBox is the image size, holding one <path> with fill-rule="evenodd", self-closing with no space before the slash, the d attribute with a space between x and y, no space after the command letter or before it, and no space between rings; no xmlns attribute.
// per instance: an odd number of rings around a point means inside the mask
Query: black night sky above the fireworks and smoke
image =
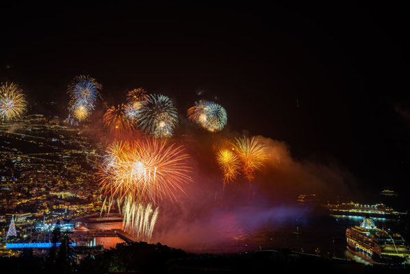
<svg viewBox="0 0 410 274"><path fill-rule="evenodd" d="M197 90L229 127L287 142L299 160L336 162L372 186L409 184L406 6L1 7L2 81L32 101L68 101L79 74L105 101L164 93L183 113Z"/></svg>

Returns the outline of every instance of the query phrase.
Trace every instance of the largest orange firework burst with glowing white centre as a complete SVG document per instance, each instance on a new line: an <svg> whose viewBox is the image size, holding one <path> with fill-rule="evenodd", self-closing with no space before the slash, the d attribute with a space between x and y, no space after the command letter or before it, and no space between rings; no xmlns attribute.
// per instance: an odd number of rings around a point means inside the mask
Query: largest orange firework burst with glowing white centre
<svg viewBox="0 0 410 274"><path fill-rule="evenodd" d="M99 171L101 189L108 197L133 195L138 202L157 203L165 196L175 199L174 190L182 190L181 185L191 180L188 158L182 147L148 138L114 142Z"/></svg>

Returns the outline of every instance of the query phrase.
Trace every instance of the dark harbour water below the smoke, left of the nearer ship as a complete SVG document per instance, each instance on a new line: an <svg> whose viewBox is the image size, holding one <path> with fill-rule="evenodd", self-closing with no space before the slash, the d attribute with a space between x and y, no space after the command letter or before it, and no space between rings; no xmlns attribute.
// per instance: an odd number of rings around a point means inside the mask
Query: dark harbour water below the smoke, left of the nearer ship
<svg viewBox="0 0 410 274"><path fill-rule="evenodd" d="M244 229L240 235L220 242L219 245L205 246L190 251L240 253L257 249L292 249L306 253L326 253L332 257L359 261L359 256L346 249L346 229L359 225L362 220L363 217L313 214L305 216L304 219L294 219L280 225L266 225L257 231ZM374 221L378 227L382 227L383 224L393 232L400 232L397 230L399 225L395 220L374 219ZM296 227L300 234L294 234L297 231Z"/></svg>

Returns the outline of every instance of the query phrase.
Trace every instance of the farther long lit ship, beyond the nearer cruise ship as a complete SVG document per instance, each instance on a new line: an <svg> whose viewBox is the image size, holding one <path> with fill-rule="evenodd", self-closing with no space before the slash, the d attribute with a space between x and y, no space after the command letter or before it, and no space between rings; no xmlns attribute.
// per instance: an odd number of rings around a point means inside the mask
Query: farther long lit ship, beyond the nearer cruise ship
<svg viewBox="0 0 410 274"><path fill-rule="evenodd" d="M337 203L326 204L324 207L329 209L329 213L337 216L370 216L374 218L399 219L405 216L407 212L397 212L396 210L385 206L383 203L375 205L363 205L361 203Z"/></svg>

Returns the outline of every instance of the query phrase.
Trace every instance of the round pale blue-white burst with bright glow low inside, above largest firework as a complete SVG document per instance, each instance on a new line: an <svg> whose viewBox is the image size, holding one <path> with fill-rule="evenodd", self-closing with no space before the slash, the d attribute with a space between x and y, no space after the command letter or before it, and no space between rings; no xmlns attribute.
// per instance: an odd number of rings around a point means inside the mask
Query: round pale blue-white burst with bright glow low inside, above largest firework
<svg viewBox="0 0 410 274"><path fill-rule="evenodd" d="M155 138L169 138L178 124L177 108L164 95L147 95L142 101L138 127Z"/></svg>

